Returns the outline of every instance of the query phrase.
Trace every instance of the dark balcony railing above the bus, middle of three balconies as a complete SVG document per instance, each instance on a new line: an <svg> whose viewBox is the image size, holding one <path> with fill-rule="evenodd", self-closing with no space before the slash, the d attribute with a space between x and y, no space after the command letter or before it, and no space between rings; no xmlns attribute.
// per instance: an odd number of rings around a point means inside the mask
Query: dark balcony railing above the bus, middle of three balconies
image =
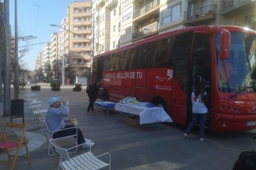
<svg viewBox="0 0 256 170"><path fill-rule="evenodd" d="M187 10L184 12L184 20L192 20L195 18L206 17L208 15L215 15L216 14L216 5L210 5L205 7L200 7L193 10Z"/></svg>

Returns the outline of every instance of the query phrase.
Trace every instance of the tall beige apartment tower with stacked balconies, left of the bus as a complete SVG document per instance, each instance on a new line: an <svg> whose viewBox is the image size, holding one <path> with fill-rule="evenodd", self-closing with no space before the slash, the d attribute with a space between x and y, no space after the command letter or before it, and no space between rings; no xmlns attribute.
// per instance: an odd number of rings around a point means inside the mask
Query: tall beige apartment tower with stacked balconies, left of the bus
<svg viewBox="0 0 256 170"><path fill-rule="evenodd" d="M90 72L92 52L92 1L75 1L67 7L65 52L66 76L75 82L77 72Z"/></svg>

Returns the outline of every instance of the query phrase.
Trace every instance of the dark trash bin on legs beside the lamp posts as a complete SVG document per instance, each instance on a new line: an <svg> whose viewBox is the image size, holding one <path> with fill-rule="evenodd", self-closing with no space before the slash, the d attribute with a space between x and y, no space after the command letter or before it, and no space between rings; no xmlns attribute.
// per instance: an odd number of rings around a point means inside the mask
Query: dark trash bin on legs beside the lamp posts
<svg viewBox="0 0 256 170"><path fill-rule="evenodd" d="M22 117L24 123L24 100L23 99L12 99L11 100L11 123L13 118Z"/></svg>

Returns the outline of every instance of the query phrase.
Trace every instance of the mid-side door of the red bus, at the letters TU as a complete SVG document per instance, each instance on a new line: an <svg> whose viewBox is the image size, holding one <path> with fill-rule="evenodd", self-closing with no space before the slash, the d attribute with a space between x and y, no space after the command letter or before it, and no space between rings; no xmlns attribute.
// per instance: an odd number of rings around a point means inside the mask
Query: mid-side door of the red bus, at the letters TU
<svg viewBox="0 0 256 170"><path fill-rule="evenodd" d="M145 87L147 87L148 46L148 44L143 44L137 49L137 63L135 73L133 75L135 76L135 97L147 97Z"/></svg>

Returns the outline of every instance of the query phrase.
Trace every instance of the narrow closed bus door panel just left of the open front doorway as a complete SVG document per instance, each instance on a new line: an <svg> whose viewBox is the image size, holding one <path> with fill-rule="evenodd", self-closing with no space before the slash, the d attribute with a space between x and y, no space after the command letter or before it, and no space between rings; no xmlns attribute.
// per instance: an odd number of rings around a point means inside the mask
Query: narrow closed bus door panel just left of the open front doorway
<svg viewBox="0 0 256 170"><path fill-rule="evenodd" d="M176 57L173 70L173 113L171 118L179 124L186 124L188 71L189 59Z"/></svg>

